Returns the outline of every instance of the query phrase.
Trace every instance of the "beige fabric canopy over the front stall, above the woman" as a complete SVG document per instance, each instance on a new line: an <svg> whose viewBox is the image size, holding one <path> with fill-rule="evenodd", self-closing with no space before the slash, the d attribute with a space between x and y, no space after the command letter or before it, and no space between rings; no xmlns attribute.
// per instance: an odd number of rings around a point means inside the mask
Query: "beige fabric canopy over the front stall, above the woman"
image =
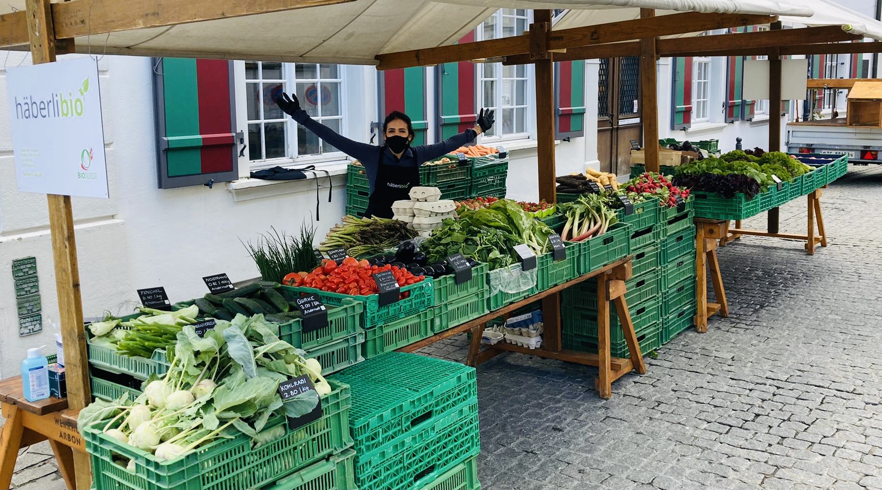
<svg viewBox="0 0 882 490"><path fill-rule="evenodd" d="M334 4L335 1L340 3ZM803 3L803 0L799 3ZM61 33L73 33L75 50L80 53L376 64L374 57L378 54L453 44L503 7L584 9L579 14L585 17L574 18L573 21L578 22L574 26L608 22L607 19L611 18L636 19L641 7L660 9L660 13L787 14L795 18L812 13L804 6L777 0L289 0L288 4L303 6L294 10L282 10L284 3L274 0L258 2L258 6L238 5L236 15L240 17L152 26L155 22L149 22L152 19L148 19L150 14L149 9L144 7L146 4L152 4L154 10L160 13L164 13L163 9L173 8L175 4L190 10L193 5L202 4L201 9L206 11L202 18L206 19L210 18L213 8L223 11L221 4L229 2L212 4L154 0L153 3L138 2L125 7L125 3L110 0L73 0L53 5L56 36L64 38L67 36ZM261 4L273 4L278 11L251 15L242 13L247 9L259 9ZM145 11L121 10L136 7ZM0 5L0 13L15 10L25 10L24 0L12 0ZM70 19L64 18L65 12ZM126 18L126 15L129 17ZM143 15L144 25L149 27L135 25L137 22L131 18L137 20L138 15ZM226 11L224 15L227 15ZM23 29L24 26L18 29L9 26L14 19L22 19L21 24L25 24L23 16L5 19L3 24L11 32ZM198 16L193 19L198 19ZM111 32L108 26L114 22L126 27ZM16 40L23 44L26 34L23 40ZM16 44L14 41L8 43ZM0 36L2 42L3 36Z"/></svg>

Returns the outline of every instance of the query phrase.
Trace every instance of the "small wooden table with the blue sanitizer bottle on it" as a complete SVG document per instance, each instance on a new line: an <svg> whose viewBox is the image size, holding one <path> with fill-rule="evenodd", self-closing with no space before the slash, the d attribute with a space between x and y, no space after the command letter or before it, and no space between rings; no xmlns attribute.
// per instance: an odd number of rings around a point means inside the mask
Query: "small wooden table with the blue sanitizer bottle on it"
<svg viewBox="0 0 882 490"><path fill-rule="evenodd" d="M86 442L77 430L77 412L67 408L67 398L29 402L22 393L21 376L15 376L0 381L0 408L6 419L0 436L0 488L11 484L19 449L47 439L65 485L76 488L73 451L85 454Z"/></svg>

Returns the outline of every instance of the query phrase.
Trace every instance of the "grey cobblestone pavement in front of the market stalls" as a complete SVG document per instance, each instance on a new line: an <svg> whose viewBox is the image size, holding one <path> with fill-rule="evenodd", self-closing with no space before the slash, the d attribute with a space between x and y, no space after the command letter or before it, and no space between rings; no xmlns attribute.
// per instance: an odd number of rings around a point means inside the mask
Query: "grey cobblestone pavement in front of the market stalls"
<svg viewBox="0 0 882 490"><path fill-rule="evenodd" d="M520 354L480 366L482 488L882 489L882 167L850 167L822 203L826 249L720 249L731 316L664 345L609 400L594 368ZM781 230L804 233L805 214L805 198L787 204ZM465 338L423 353L462 361ZM64 488L50 454L19 457L13 487Z"/></svg>

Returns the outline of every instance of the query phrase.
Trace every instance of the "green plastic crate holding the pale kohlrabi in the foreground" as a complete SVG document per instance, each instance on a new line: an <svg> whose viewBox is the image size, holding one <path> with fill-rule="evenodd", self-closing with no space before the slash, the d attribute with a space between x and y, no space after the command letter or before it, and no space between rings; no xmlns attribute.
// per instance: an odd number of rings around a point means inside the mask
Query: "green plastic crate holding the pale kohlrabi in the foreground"
<svg viewBox="0 0 882 490"><path fill-rule="evenodd" d="M183 488L187 490L232 490L258 488L280 475L296 471L352 445L348 431L349 387L329 381L332 392L322 398L322 417L303 427L286 427L280 437L253 447L250 437L206 444L173 459L157 461L152 454L123 444L96 427L81 430L92 460L93 484L101 489ZM116 422L118 425L120 422ZM286 424L284 416L271 419L267 428ZM117 460L134 460L135 471Z"/></svg>

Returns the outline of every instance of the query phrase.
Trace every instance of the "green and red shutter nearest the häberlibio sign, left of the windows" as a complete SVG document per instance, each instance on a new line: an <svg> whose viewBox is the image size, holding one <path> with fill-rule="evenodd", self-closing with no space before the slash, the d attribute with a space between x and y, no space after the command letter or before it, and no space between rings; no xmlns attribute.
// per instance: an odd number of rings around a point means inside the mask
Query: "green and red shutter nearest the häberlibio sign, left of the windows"
<svg viewBox="0 0 882 490"><path fill-rule="evenodd" d="M237 179L233 62L161 58L154 66L160 189Z"/></svg>

